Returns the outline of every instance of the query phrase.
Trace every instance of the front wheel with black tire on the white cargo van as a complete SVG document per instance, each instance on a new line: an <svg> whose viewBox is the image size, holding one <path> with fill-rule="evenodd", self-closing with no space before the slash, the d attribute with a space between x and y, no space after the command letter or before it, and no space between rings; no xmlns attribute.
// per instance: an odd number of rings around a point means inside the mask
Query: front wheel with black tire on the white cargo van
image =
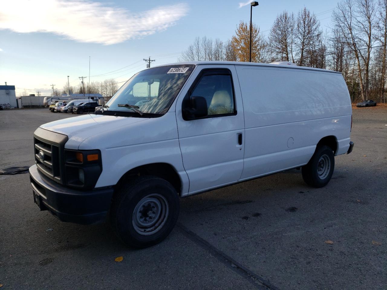
<svg viewBox="0 0 387 290"><path fill-rule="evenodd" d="M160 203L159 210L157 201ZM166 207L162 208L162 205ZM152 208L155 212L151 212ZM158 244L170 234L179 211L178 194L168 181L155 176L140 176L119 186L111 206L110 223L127 246L146 248ZM154 219L151 220L149 213ZM139 223L144 221L153 224L139 227Z"/></svg>

